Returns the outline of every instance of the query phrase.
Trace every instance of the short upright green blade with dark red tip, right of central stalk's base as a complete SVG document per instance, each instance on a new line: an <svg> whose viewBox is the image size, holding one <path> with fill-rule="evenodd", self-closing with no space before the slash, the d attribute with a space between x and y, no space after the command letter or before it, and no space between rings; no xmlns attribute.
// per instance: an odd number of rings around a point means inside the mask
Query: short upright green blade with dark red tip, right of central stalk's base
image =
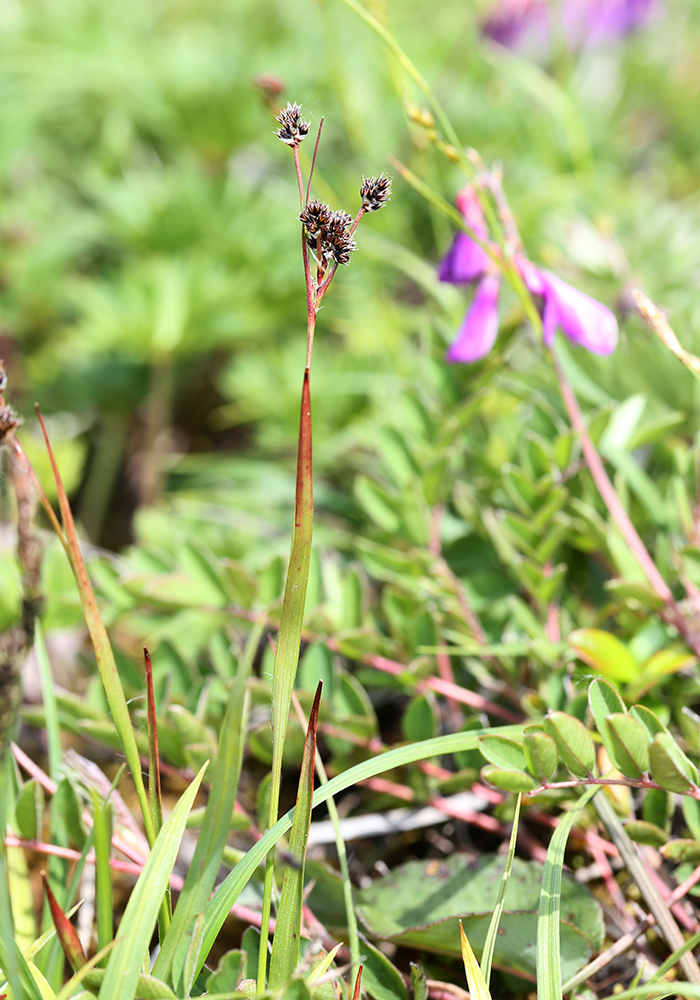
<svg viewBox="0 0 700 1000"><path fill-rule="evenodd" d="M304 742L299 791L294 809L292 833L289 838L290 858L284 871L275 937L270 957L271 990L282 989L285 983L292 978L299 961L301 907L304 898L304 864L306 862L306 841L309 837L311 823L311 800L314 793L316 727L318 725L321 688L322 683L319 681Z"/></svg>

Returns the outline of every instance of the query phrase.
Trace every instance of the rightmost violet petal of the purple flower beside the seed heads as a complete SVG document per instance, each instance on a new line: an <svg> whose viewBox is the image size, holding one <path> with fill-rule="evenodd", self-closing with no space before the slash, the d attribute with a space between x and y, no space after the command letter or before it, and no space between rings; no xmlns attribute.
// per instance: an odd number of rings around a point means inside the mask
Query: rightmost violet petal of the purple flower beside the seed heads
<svg viewBox="0 0 700 1000"><path fill-rule="evenodd" d="M572 343L594 354L612 354L617 345L617 320L608 307L548 271L540 271L540 275L545 344L551 346L557 327L561 327Z"/></svg>

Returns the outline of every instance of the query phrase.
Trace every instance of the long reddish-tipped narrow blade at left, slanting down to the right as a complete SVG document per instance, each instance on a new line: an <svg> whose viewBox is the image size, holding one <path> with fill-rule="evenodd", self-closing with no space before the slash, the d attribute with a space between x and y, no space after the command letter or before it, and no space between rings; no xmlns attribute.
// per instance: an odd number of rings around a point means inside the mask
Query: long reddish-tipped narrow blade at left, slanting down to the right
<svg viewBox="0 0 700 1000"><path fill-rule="evenodd" d="M66 491L63 487L58 466L56 465L56 459L54 458L53 449L51 448L51 442L49 441L49 436L46 433L46 427L44 426L44 421L38 408L37 415L39 417L39 423L44 435L46 449L49 454L51 468L56 481L56 492L58 493L58 502L61 508L61 517L63 518L63 528L66 542L68 544L71 567L73 569L73 573L75 574L75 581L78 585L78 593L80 594L80 602L83 608L85 624L88 627L90 639L92 640L92 645L95 650L97 667L99 669L100 679L102 680L102 685L107 697L107 703L109 704L109 710L112 713L112 721L114 722L117 732L119 733L122 750L124 751L124 756L126 757L126 762L129 765L131 777L136 788L136 794L138 796L141 813L143 815L143 822L146 828L146 836L148 837L149 844L153 844L155 840L155 832L151 821L148 796L143 783L143 777L141 776L139 752L136 746L134 731L131 728L129 709L126 704L126 698L124 697L124 691L119 679L117 665L114 660L114 653L112 652L112 646L110 644L104 622L100 617L97 601L95 600L95 594L85 566L85 560L83 559L83 554L80 550L80 541L78 539L78 532L75 527L75 521L73 520L70 504L68 503L68 496L66 495Z"/></svg>

